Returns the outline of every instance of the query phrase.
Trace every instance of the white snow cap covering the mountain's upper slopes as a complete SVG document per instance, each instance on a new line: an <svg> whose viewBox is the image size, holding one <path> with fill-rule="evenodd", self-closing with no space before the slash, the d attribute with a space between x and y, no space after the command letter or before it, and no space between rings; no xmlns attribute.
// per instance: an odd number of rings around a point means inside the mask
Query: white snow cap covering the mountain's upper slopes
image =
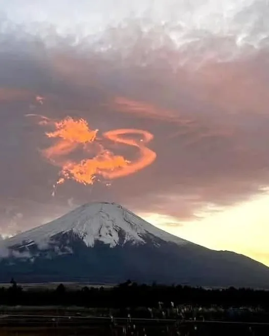
<svg viewBox="0 0 269 336"><path fill-rule="evenodd" d="M126 242L145 244L147 237L151 237L155 245L158 245L160 239L177 245L189 243L156 228L119 204L102 202L84 204L48 224L7 239L4 249L1 244L1 254L3 255L3 250L7 250L7 247L14 245L27 247L36 244L40 249L47 248L48 242L53 241L56 235L70 232L80 237L88 247L93 247L96 241L115 247L119 244L122 233L123 245ZM152 236L158 238L156 242Z"/></svg>

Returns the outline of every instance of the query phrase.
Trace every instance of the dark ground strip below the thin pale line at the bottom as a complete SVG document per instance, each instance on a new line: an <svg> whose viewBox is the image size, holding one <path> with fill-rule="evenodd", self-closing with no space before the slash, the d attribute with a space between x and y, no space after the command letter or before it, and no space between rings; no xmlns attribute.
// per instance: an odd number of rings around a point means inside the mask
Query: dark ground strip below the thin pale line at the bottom
<svg viewBox="0 0 269 336"><path fill-rule="evenodd" d="M269 323L126 319L10 314L0 318L0 336L215 336L268 335Z"/></svg>

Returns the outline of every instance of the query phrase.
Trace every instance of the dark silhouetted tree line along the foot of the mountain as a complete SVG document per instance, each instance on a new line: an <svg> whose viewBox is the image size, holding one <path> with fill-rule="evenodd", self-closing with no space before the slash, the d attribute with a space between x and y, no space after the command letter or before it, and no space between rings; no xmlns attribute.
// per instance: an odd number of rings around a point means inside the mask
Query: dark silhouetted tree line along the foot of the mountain
<svg viewBox="0 0 269 336"><path fill-rule="evenodd" d="M1 285L0 285L1 286ZM126 281L114 287L69 289L23 289L13 279L10 287L0 287L0 305L66 305L81 307L171 307L177 305L212 305L228 307L261 307L269 310L269 291L234 287L205 289L190 286L137 284Z"/></svg>

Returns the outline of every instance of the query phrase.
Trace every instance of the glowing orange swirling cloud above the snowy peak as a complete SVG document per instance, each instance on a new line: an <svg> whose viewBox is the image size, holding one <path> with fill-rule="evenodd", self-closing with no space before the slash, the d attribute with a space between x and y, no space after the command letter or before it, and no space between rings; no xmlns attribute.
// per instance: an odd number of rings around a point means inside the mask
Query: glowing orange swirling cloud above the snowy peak
<svg viewBox="0 0 269 336"><path fill-rule="evenodd" d="M41 151L42 155L52 164L60 167L56 185L68 179L84 185L93 184L98 177L106 180L116 179L142 170L156 158L155 152L146 146L146 143L153 139L153 135L147 131L112 130L103 133L99 138L97 137L98 130L92 130L84 119L66 117L55 121L41 117L39 124L54 128L53 131L46 132L46 135L48 138L58 139L49 148ZM127 135L140 135L142 138L135 140L127 138ZM134 160L127 160L122 155L115 155L104 147L105 140L133 146L138 151L138 157ZM88 158L71 159L71 154L79 149L87 153Z"/></svg>

